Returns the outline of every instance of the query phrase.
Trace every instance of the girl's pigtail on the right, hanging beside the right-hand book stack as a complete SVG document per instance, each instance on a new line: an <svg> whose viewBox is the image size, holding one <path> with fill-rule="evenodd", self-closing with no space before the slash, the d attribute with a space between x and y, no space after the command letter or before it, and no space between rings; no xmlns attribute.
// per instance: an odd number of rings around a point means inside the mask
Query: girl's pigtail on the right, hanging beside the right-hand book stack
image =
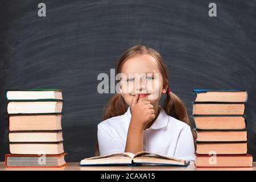
<svg viewBox="0 0 256 182"><path fill-rule="evenodd" d="M196 148L196 132L191 127L191 122L188 117L188 112L185 107L184 102L176 96L173 92L169 92L167 94L166 100L164 100L163 109L166 111L168 115L171 115L172 117L183 121L184 123L187 123L187 125L190 126L193 139L194 139L194 145Z"/></svg>

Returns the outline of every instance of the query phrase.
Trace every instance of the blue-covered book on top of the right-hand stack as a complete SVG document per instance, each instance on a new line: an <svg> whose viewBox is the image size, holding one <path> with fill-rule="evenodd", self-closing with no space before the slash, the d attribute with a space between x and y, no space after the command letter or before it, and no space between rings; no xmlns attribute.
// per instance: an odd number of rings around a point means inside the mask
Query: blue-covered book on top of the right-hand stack
<svg viewBox="0 0 256 182"><path fill-rule="evenodd" d="M196 94L195 102L234 102L241 103L247 101L245 90L193 90Z"/></svg>

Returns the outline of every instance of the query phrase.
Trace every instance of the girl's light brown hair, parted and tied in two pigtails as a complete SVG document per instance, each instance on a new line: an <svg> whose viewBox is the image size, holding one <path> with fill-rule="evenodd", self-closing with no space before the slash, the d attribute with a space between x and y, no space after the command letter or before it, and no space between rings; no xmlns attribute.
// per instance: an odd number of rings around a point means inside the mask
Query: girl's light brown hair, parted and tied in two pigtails
<svg viewBox="0 0 256 182"><path fill-rule="evenodd" d="M159 71L163 77L164 84L168 83L167 67L164 64L162 56L154 49L146 46L138 45L138 46L131 47L130 49L125 51L121 55L121 57L119 57L117 67L115 69L117 71L116 74L121 72L122 65L125 63L126 60L130 59L131 57L144 55L144 54L150 55L155 58L156 62L158 63ZM126 104L122 95L120 93L115 93L114 96L110 98L108 104L105 106L102 119L105 120L105 119L115 117L117 115L125 114L128 107L129 105ZM172 117L180 121L183 121L184 123L187 123L187 125L191 127L191 122L189 120L185 104L178 96L176 96L176 94L174 94L173 92L169 92L167 94L166 100L164 100L162 107L168 115L171 115ZM195 144L196 133L192 128L191 128L191 131L194 139L194 145L196 147L196 144ZM100 151L98 148L98 140L96 142L95 155L96 156L100 155Z"/></svg>

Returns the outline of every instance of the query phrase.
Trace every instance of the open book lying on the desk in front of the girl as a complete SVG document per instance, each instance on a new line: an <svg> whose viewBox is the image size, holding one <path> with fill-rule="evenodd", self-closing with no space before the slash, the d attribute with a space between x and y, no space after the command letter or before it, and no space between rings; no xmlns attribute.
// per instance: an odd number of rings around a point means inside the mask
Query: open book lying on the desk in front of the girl
<svg viewBox="0 0 256 182"><path fill-rule="evenodd" d="M163 166L188 166L185 159L173 158L167 155L152 152L129 152L113 153L109 155L94 156L81 160L80 166L108 166L108 165L163 165Z"/></svg>

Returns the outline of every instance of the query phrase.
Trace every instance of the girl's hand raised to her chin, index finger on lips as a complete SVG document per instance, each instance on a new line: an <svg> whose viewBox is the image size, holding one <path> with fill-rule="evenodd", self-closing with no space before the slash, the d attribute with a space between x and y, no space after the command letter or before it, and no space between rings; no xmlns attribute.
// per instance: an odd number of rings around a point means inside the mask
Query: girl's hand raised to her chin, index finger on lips
<svg viewBox="0 0 256 182"><path fill-rule="evenodd" d="M131 125L141 126L142 129L155 119L154 106L150 104L150 101L139 100L139 94L137 93L131 101Z"/></svg>

